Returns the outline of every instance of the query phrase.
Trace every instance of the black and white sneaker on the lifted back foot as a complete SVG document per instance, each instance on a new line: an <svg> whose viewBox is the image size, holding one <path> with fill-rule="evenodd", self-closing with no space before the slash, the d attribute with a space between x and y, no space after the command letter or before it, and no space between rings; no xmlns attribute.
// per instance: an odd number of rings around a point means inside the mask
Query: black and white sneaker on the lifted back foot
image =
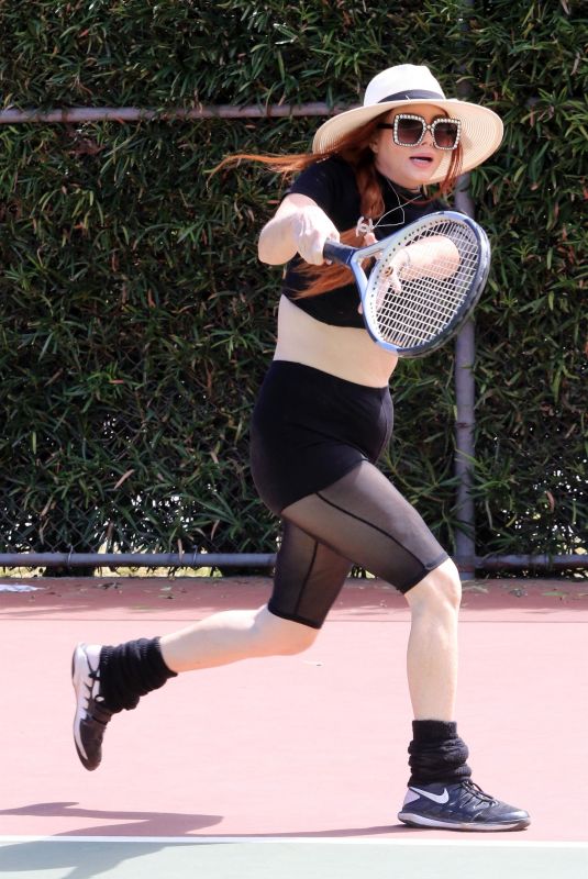
<svg viewBox="0 0 588 879"><path fill-rule="evenodd" d="M98 644L78 644L71 657L71 682L76 691L74 742L84 767L97 769L102 759L102 737L112 716L100 694Z"/></svg>

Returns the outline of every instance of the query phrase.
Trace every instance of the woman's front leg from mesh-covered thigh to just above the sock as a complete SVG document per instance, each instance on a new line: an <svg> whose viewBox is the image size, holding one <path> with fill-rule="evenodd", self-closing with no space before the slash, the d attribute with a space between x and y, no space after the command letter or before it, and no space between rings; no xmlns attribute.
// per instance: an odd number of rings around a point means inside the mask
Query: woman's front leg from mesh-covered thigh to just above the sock
<svg viewBox="0 0 588 879"><path fill-rule="evenodd" d="M284 515L406 594L414 717L453 721L459 576L417 511L366 461Z"/></svg>

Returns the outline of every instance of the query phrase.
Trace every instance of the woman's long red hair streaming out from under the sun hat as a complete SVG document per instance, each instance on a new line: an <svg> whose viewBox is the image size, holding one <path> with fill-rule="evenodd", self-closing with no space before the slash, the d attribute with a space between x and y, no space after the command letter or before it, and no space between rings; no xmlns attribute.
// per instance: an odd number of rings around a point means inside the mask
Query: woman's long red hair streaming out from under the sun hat
<svg viewBox="0 0 588 879"><path fill-rule="evenodd" d="M336 144L320 153L295 153L287 156L274 155L255 155L251 153L237 153L228 156L214 168L214 173L223 167L245 162L258 162L273 171L286 176L299 174L317 162L322 162L331 156L341 156L347 162L354 173L359 191L360 212L362 216L376 221L385 210L384 194L378 179L376 165L374 162L374 153L370 144L374 141L375 133L379 123L388 115L386 111L379 116L370 120L364 125L343 135ZM452 151L450 166L443 180L439 183L439 189L435 194L446 196L451 192L456 183L456 180L462 171L463 149L459 144L456 149ZM422 201L423 204L432 201L434 196L425 197ZM341 241L343 244L348 244L353 247L360 247L363 244L363 236L357 236L355 227L345 230L341 233ZM350 283L350 269L346 266L333 264L331 266L311 266L304 265L298 269L300 275L304 277L308 282L307 289L297 294L298 299L306 299L311 296L319 296L329 290L334 290L337 287L343 287Z"/></svg>

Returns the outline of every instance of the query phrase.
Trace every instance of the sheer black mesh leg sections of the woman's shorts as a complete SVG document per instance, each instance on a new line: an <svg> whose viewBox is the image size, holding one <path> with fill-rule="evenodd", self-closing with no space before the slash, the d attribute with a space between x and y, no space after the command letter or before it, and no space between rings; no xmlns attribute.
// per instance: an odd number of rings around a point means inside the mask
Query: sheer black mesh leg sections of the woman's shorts
<svg viewBox="0 0 588 879"><path fill-rule="evenodd" d="M447 558L417 510L367 461L292 503L282 518L285 541L269 609L314 627L324 621L351 563L407 592Z"/></svg>

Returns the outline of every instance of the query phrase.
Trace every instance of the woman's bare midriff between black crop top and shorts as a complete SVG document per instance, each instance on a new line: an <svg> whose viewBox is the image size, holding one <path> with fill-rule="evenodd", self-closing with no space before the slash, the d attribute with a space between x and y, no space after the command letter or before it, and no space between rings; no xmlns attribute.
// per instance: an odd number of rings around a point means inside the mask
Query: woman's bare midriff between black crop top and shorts
<svg viewBox="0 0 588 879"><path fill-rule="evenodd" d="M376 345L366 330L317 321L284 296L274 359L311 366L369 388L386 387L398 363L396 354Z"/></svg>

